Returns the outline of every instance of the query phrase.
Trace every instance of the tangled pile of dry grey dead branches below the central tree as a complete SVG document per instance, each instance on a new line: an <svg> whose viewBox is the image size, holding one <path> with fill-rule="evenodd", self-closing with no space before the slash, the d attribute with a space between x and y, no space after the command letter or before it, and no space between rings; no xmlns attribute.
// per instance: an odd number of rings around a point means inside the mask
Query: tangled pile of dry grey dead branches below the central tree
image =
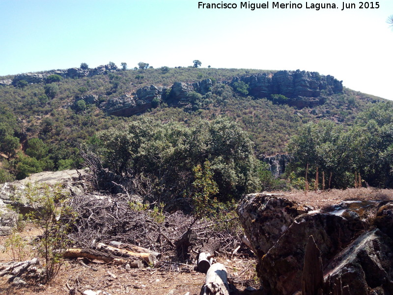
<svg viewBox="0 0 393 295"><path fill-rule="evenodd" d="M143 208L129 196L74 196L77 222L70 237L75 246L92 248L111 241L138 245L162 254L164 260L195 259L200 249L231 253L241 244L237 218L195 221L180 211L169 214Z"/></svg>

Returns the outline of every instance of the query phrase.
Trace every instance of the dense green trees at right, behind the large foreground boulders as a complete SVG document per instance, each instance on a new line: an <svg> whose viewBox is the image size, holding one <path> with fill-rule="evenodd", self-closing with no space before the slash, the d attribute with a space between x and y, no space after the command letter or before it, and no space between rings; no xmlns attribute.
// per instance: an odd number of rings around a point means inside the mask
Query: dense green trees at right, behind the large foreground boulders
<svg viewBox="0 0 393 295"><path fill-rule="evenodd" d="M347 128L327 120L308 123L292 137L288 152L298 176L309 165L309 176L315 179L318 168L318 182L324 172L332 187L392 187L393 104L371 106Z"/></svg>

